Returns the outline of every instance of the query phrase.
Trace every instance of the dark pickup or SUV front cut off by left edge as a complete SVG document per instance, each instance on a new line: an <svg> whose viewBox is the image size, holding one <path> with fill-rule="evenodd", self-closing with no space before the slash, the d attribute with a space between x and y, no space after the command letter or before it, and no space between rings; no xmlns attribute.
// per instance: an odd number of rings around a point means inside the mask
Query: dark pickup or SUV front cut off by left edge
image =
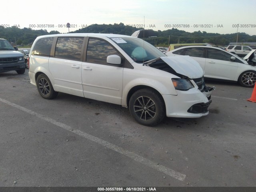
<svg viewBox="0 0 256 192"><path fill-rule="evenodd" d="M0 39L0 72L16 71L18 74L25 72L26 64L23 54L13 48L6 39Z"/></svg>

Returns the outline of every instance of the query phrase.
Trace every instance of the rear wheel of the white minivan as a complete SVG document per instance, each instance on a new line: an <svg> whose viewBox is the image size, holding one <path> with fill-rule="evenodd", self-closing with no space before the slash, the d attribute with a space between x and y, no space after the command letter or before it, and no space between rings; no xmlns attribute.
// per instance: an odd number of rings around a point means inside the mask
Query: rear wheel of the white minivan
<svg viewBox="0 0 256 192"><path fill-rule="evenodd" d="M40 94L45 99L56 98L58 92L54 91L52 83L45 74L40 74L36 79L36 87Z"/></svg>

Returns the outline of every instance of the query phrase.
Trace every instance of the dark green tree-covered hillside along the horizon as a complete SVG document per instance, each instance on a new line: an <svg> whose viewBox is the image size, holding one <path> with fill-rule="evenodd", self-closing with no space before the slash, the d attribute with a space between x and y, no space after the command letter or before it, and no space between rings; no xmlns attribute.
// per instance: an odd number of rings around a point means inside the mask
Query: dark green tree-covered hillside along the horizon
<svg viewBox="0 0 256 192"><path fill-rule="evenodd" d="M112 34L123 34L132 35L136 30L142 28L135 28L132 26L120 24L92 24L86 28L82 28L70 33L112 33ZM186 32L172 28L164 31L153 31L154 36L152 38L145 38L146 41L150 42L154 46L168 46L172 43L211 43L218 46L228 45L230 42L236 42L237 34L218 34L218 33L207 33L205 31ZM0 26L0 38L7 39L10 42L15 42L17 45L28 45L32 44L37 36L48 35L48 34L59 34L58 31L47 30L32 30L31 28L20 29L12 26L4 28ZM238 42L256 42L256 35L250 36L246 33L238 33Z"/></svg>

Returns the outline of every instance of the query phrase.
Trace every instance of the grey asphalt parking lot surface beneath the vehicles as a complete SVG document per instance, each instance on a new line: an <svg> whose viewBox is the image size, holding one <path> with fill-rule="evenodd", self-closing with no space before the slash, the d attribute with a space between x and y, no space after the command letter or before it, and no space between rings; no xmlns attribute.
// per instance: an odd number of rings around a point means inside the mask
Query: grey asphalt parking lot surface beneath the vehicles
<svg viewBox="0 0 256 192"><path fill-rule="evenodd" d="M252 88L215 86L209 115L142 126L118 105L0 73L0 186L256 186Z"/></svg>

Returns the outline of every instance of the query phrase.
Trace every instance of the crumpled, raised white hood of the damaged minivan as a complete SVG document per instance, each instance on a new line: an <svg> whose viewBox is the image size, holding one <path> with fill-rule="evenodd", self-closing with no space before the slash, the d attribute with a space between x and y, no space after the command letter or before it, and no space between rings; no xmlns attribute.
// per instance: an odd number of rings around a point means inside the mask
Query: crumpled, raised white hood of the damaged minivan
<svg viewBox="0 0 256 192"><path fill-rule="evenodd" d="M167 56L160 57L176 73L187 76L190 79L200 78L204 75L204 70L196 60L190 56Z"/></svg>

